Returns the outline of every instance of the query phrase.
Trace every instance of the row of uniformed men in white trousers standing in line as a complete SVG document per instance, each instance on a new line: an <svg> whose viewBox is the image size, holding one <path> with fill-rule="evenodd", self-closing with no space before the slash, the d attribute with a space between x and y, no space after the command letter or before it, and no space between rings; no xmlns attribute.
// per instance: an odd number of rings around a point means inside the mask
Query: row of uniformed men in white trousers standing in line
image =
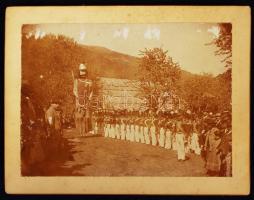
<svg viewBox="0 0 254 200"><path fill-rule="evenodd" d="M119 117L105 116L103 123L95 118L94 131L103 127L104 137L177 150L178 160L185 160L185 153L200 155L201 148L195 127L189 124L190 133L183 130L181 121L165 117ZM192 128L190 128L192 127Z"/></svg>

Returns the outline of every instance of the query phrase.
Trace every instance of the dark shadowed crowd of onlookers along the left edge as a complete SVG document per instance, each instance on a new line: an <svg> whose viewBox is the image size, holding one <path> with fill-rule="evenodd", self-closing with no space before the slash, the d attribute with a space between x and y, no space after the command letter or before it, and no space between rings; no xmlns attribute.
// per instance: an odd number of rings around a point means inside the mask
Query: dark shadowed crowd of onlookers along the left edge
<svg viewBox="0 0 254 200"><path fill-rule="evenodd" d="M59 103L51 102L43 109L32 94L22 85L21 174L29 176L48 174L45 166L64 159L69 148L62 137L64 120Z"/></svg>

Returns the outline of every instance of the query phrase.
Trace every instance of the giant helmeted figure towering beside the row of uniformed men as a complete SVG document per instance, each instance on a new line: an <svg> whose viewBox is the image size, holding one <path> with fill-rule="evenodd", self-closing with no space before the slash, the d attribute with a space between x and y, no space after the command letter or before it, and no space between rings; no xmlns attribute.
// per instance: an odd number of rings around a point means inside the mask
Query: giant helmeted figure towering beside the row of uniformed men
<svg viewBox="0 0 254 200"><path fill-rule="evenodd" d="M88 79L87 66L79 65L78 76L74 79L74 96L76 97L76 127L83 136L91 127L90 102L93 95L92 81Z"/></svg>

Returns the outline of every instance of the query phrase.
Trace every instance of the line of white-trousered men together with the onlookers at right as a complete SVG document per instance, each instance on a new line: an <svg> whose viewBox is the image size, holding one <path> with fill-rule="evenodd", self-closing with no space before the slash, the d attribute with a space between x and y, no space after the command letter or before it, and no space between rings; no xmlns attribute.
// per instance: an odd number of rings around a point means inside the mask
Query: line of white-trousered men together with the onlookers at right
<svg viewBox="0 0 254 200"><path fill-rule="evenodd" d="M210 176L232 176L231 113L196 115L190 111L154 113L95 111L94 133L106 138L159 146L177 152L179 162L188 154L202 156Z"/></svg>

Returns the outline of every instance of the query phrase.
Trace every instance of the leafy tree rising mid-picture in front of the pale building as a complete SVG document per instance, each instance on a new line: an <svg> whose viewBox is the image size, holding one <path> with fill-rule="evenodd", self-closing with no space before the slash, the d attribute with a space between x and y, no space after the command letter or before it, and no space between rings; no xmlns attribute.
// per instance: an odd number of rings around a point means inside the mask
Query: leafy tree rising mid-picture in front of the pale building
<svg viewBox="0 0 254 200"><path fill-rule="evenodd" d="M145 97L148 106L158 109L158 99L164 93L177 92L177 81L181 70L178 63L167 56L162 48L145 49L139 65L139 81L141 95Z"/></svg>

